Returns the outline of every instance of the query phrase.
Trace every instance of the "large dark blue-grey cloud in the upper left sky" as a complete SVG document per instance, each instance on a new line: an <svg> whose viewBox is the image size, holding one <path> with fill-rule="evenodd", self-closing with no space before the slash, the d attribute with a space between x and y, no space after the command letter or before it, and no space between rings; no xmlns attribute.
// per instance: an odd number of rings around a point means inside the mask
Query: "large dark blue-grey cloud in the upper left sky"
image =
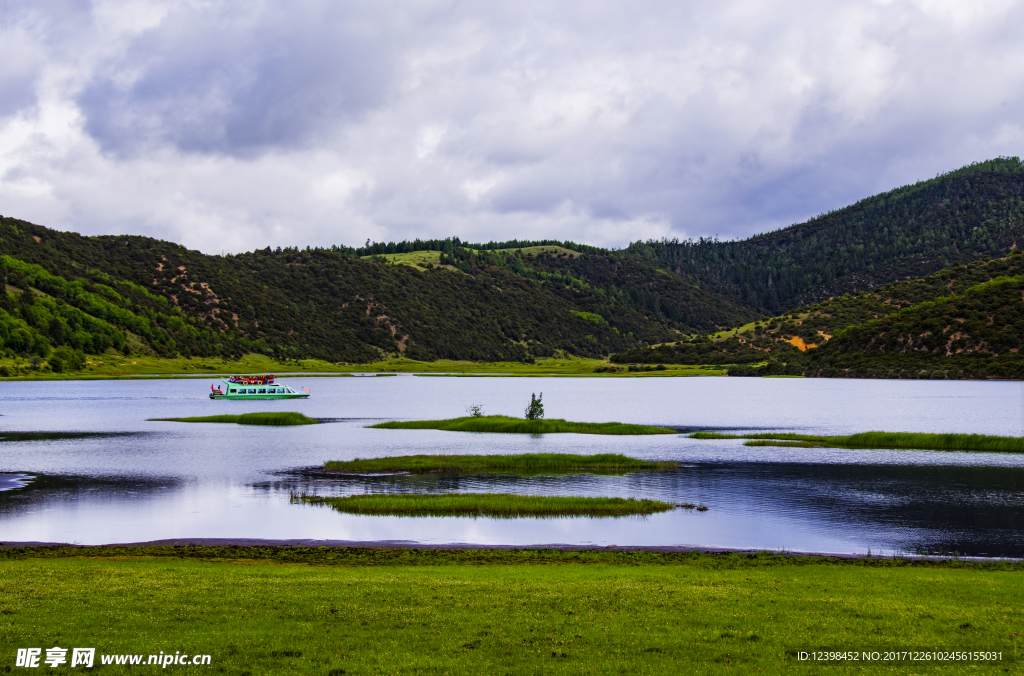
<svg viewBox="0 0 1024 676"><path fill-rule="evenodd" d="M176 8L99 65L77 97L86 129L119 155L313 142L391 85L393 27L365 13L358 3Z"/></svg>

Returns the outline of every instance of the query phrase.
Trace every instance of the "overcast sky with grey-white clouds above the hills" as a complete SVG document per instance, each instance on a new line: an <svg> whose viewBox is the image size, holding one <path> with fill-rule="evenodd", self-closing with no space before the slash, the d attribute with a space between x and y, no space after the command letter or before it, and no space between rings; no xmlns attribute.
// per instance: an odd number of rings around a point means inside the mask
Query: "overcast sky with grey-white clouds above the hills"
<svg viewBox="0 0 1024 676"><path fill-rule="evenodd" d="M207 253L743 238L1021 155L1024 2L0 0L0 213Z"/></svg>

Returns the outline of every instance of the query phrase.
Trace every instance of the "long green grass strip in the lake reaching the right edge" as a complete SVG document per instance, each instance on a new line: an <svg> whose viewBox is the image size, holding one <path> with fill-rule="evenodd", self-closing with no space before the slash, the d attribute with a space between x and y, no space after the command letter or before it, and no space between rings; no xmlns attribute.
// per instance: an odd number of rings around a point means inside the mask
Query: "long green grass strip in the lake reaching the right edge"
<svg viewBox="0 0 1024 676"><path fill-rule="evenodd" d="M695 439L749 439L744 446L781 446L831 449L900 449L919 451L973 451L1024 453L1024 438L989 434L923 434L918 432L861 432L845 436L814 434L722 434L694 432Z"/></svg>

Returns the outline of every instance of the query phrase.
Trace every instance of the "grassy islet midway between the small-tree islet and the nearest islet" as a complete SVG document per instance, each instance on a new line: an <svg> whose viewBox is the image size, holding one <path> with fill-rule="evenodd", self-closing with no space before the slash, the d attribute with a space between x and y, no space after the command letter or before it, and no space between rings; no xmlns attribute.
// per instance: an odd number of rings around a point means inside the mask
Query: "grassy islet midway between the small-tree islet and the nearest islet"
<svg viewBox="0 0 1024 676"><path fill-rule="evenodd" d="M679 463L652 462L630 458L618 453L578 456L571 453L524 453L494 456L395 456L361 460L331 460L324 468L335 472L372 474L391 472L573 472L573 471L636 471L672 469Z"/></svg>

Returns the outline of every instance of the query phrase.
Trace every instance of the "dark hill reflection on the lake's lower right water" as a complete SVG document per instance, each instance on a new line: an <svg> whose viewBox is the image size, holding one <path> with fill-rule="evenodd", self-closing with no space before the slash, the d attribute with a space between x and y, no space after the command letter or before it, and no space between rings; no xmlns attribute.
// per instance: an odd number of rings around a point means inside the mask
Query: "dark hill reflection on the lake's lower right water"
<svg viewBox="0 0 1024 676"><path fill-rule="evenodd" d="M739 527L743 520L767 517L778 543L795 544L797 539L785 531L797 521L811 532L811 540L834 541L843 533L869 543L873 551L1024 556L1024 471L996 467L702 463L618 476L297 474L254 488L321 496L497 492L644 497L707 505L716 520L738 532L745 530ZM728 533L722 538L716 544L743 546Z"/></svg>

